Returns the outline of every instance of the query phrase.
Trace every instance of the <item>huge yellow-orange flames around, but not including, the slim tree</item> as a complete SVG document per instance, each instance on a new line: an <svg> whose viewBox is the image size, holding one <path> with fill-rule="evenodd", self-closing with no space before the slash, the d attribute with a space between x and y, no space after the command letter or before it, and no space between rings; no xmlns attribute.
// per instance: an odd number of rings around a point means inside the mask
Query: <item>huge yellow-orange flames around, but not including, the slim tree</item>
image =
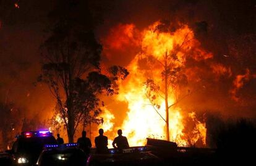
<svg viewBox="0 0 256 166"><path fill-rule="evenodd" d="M160 22L154 23L140 32L140 37L137 38L134 35L138 31L135 30L134 25L118 25L116 33L119 34L111 33L112 38L107 38L108 49L124 49L127 43L141 47L141 51L127 65L126 68L129 70L130 75L120 83L119 94L116 96L117 101L128 104L127 117L121 127L117 127L114 125L114 115L108 112L108 114L102 115L105 122L107 122L106 126L100 126L113 132L116 132L118 128L122 128L124 135L129 139L130 146L143 145L146 138L166 139L164 133L165 122L156 114L148 98L146 98L144 84L147 78L153 75L156 83L161 86L163 84L161 83L163 68L143 68L140 66L140 60L149 55L161 60L165 54L171 53L175 46L181 45L182 51L177 52L178 60L173 62L176 67L183 67L188 57L195 60L204 60L212 57L212 54L200 48L200 43L194 38L193 31L187 25L181 26L174 32L157 31L156 27L158 25L160 25ZM105 53L109 56L108 52ZM169 104L176 102L175 96L171 93L172 90L172 88L169 88ZM164 99L158 99L158 103L160 104L158 112L162 117L165 117ZM190 118L190 121L194 123L192 131L189 131L190 134L184 132L186 128L185 118ZM195 112L186 114L177 106L171 107L169 110L169 135L171 141L175 141L179 146L190 146L197 143L197 141L201 141L205 145L205 123L197 120Z"/></svg>

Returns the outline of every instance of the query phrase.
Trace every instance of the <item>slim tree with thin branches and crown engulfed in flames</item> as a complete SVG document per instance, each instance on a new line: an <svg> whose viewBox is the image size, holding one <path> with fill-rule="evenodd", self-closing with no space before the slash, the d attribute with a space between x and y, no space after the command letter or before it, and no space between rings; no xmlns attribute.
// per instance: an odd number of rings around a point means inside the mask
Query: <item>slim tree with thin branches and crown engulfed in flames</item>
<svg viewBox="0 0 256 166"><path fill-rule="evenodd" d="M190 94L189 89L181 93L181 87L188 83L186 58L197 54L198 57L194 58L200 58L201 54L199 49L194 48L197 41L193 31L185 25L176 27L170 26L169 22L157 22L145 33L142 41L142 55L147 59L149 71L154 71L148 74L145 94L153 109L166 123L165 133L168 141L169 110ZM164 106L163 103L158 104L161 99L164 100ZM165 109L165 118L158 111L160 107Z"/></svg>

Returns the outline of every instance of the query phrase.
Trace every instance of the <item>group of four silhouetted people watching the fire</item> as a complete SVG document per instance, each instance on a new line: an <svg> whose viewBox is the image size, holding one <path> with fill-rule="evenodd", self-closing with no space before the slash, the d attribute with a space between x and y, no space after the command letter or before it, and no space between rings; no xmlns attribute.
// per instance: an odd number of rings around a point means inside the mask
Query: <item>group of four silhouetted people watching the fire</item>
<svg viewBox="0 0 256 166"><path fill-rule="evenodd" d="M96 152L97 153L107 153L108 152L108 137L103 135L104 130L101 128L99 130L99 136L96 136L95 138L95 146L96 146ZM114 138L114 141L112 143L113 147L115 149L126 149L129 147L129 143L127 141L126 136L122 136L122 130L117 130L118 136ZM63 139L57 135L57 143L63 144ZM77 143L79 143L80 149L83 149L83 151L86 154L90 153L90 148L92 147L92 143L90 138L86 137L86 131L82 131L82 137L77 139Z"/></svg>

